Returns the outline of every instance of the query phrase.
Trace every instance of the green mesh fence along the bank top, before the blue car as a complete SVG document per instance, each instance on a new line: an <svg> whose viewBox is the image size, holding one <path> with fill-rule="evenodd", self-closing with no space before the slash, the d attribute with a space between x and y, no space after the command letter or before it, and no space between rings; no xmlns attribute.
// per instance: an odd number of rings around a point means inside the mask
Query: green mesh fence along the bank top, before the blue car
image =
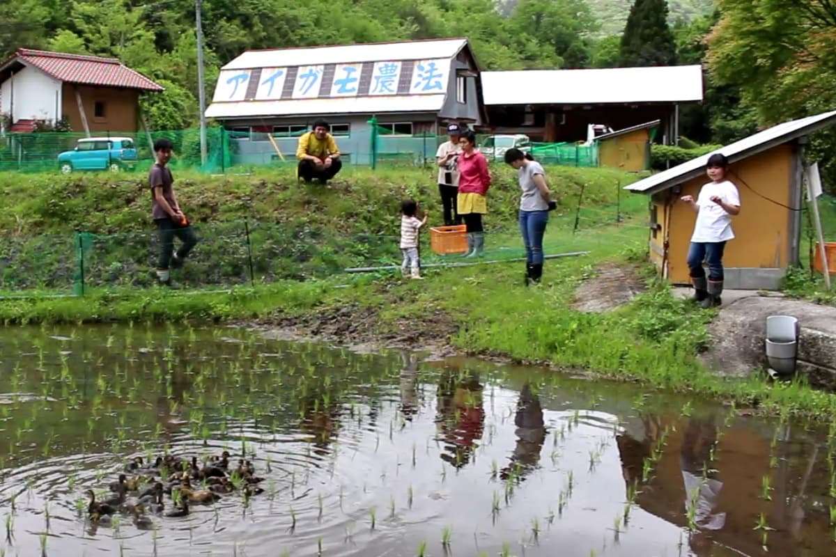
<svg viewBox="0 0 836 557"><path fill-rule="evenodd" d="M344 164L370 166L434 165L438 146L446 135L398 129L371 119L366 125L332 125ZM400 125L400 124L399 124ZM174 146L174 169L195 169L217 174L232 167L296 165L299 137L308 126L245 126L206 130L206 162L201 163L199 129L154 132L104 132L88 137L74 132L38 132L0 136L0 171L21 172L80 170L147 170L154 162L153 144L166 138ZM488 136L479 136L485 144ZM84 141L79 142L79 139ZM491 144L492 145L492 144ZM492 159L501 159L505 148L483 149ZM596 145L533 144L533 153L543 162L557 165L597 166Z"/></svg>

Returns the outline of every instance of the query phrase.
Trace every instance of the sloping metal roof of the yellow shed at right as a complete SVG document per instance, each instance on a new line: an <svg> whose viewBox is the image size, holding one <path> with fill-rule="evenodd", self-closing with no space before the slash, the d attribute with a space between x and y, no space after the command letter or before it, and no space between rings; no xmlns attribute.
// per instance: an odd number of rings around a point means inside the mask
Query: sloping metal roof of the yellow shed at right
<svg viewBox="0 0 836 557"><path fill-rule="evenodd" d="M836 110L784 122L783 124L777 124L776 126L772 126L772 128L764 129L762 132L750 135L735 143L728 144L721 149L717 149L716 153L725 154L729 162L733 163L737 160L752 156L752 154L771 149L776 145L798 139L803 135L811 134L818 129L833 124L833 122L836 122ZM634 184L630 184L624 190L644 194L654 194L657 191L666 190L671 186L681 184L686 180L691 180L691 178L705 172L708 157L710 156L711 153L704 154L696 159L691 159L681 165L645 178L645 180L639 180Z"/></svg>

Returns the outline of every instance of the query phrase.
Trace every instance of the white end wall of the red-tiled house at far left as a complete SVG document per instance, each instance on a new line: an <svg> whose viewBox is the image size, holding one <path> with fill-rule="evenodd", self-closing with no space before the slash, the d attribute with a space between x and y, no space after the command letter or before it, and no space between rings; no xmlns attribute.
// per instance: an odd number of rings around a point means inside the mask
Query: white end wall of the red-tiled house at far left
<svg viewBox="0 0 836 557"><path fill-rule="evenodd" d="M0 112L10 114L13 123L20 119L54 122L61 118L61 93L60 81L38 68L23 68L0 85Z"/></svg>

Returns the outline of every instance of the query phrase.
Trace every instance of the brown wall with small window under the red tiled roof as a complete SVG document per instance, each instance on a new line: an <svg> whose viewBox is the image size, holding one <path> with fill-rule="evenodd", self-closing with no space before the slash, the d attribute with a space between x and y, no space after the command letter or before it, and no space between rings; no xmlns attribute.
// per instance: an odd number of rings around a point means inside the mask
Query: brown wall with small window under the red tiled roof
<svg viewBox="0 0 836 557"><path fill-rule="evenodd" d="M139 92L134 89L113 87L87 87L84 85L64 84L64 114L75 132L84 132L79 103L75 98L78 87L84 114L87 116L90 132L134 132L139 129L138 109ZM104 103L104 118L95 117L95 103Z"/></svg>

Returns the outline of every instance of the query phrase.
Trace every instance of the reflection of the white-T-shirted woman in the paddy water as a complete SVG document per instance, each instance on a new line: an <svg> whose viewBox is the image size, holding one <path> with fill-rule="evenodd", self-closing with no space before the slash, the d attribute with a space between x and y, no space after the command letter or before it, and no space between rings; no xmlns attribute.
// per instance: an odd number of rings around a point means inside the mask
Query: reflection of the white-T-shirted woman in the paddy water
<svg viewBox="0 0 836 557"><path fill-rule="evenodd" d="M682 440L680 466L685 483L686 513L696 505L694 522L700 529L719 530L726 524L726 513L716 508L723 484L709 461L711 445L716 441L716 428L711 420L691 418ZM707 471L704 478L703 473Z"/></svg>

